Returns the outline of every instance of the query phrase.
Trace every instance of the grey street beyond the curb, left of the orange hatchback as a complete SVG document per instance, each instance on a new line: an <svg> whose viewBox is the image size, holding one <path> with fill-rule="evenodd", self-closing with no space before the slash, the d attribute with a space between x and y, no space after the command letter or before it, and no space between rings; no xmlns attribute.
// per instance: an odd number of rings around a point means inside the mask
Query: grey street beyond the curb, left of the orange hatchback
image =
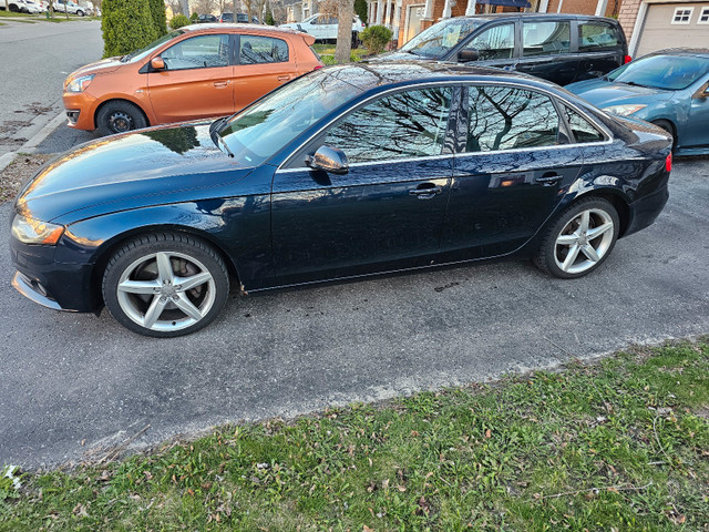
<svg viewBox="0 0 709 532"><path fill-rule="evenodd" d="M56 116L66 74L103 54L99 21L2 23L0 155L19 150Z"/></svg>

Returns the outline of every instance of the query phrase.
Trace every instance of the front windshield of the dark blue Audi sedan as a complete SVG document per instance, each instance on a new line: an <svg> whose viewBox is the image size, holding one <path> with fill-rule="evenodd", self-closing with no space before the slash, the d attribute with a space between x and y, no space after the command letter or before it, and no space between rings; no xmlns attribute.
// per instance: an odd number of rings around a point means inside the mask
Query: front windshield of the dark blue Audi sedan
<svg viewBox="0 0 709 532"><path fill-rule="evenodd" d="M235 114L219 132L237 163L256 166L330 111L363 92L352 69L318 70L271 92Z"/></svg>

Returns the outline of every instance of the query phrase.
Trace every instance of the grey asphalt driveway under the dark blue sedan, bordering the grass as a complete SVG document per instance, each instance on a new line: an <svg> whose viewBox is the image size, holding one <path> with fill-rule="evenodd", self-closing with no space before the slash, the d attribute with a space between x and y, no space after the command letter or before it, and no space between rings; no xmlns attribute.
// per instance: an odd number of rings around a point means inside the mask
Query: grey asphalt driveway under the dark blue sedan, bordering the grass
<svg viewBox="0 0 709 532"><path fill-rule="evenodd" d="M148 423L138 447L707 334L708 174L708 160L677 163L657 223L583 279L517 262L235 297L173 340L23 299L0 238L0 462L56 464Z"/></svg>

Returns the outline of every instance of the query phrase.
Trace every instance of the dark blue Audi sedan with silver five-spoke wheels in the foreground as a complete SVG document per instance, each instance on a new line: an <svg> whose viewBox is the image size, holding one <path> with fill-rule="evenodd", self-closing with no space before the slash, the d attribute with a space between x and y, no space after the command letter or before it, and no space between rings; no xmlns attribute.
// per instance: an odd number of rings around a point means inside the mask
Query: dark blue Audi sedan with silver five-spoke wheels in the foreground
<svg viewBox="0 0 709 532"><path fill-rule="evenodd" d="M658 216L670 146L522 74L333 66L232 117L50 162L14 205L13 285L166 337L206 326L229 287L499 257L578 277Z"/></svg>

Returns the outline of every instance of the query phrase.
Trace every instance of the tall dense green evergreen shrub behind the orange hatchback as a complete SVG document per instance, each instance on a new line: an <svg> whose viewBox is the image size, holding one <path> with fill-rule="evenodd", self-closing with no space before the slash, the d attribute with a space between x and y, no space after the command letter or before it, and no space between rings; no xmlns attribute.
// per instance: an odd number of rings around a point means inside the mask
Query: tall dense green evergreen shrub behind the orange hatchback
<svg viewBox="0 0 709 532"><path fill-rule="evenodd" d="M151 8L144 0L103 0L103 57L123 55L157 39Z"/></svg>

